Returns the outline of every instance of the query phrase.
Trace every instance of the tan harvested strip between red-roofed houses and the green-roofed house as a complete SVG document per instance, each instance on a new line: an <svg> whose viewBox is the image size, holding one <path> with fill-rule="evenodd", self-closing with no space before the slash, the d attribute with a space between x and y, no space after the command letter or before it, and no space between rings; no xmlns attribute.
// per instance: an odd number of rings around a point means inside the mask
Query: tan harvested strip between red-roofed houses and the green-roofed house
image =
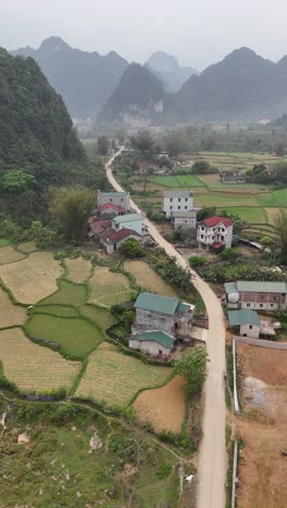
<svg viewBox="0 0 287 508"><path fill-rule="evenodd" d="M124 268L129 271L135 279L136 284L141 285L150 291L157 291L158 294L165 296L176 296L175 291L171 288L150 266L141 261L127 261Z"/></svg>

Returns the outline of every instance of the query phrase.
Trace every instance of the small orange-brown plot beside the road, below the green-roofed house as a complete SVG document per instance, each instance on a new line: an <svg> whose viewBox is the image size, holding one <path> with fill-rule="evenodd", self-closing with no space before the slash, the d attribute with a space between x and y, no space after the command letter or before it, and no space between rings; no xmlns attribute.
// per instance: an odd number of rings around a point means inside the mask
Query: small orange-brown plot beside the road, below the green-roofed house
<svg viewBox="0 0 287 508"><path fill-rule="evenodd" d="M139 420L151 423L157 432L180 433L185 418L184 378L175 376L160 389L141 392L134 408Z"/></svg>

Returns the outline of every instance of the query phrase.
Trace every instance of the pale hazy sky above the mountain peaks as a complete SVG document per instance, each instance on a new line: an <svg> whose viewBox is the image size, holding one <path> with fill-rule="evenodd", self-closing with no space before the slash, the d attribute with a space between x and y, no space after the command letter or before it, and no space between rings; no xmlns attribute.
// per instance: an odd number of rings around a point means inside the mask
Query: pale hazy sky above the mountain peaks
<svg viewBox="0 0 287 508"><path fill-rule="evenodd" d="M129 61L164 50L202 69L241 46L279 60L286 16L286 0L0 0L0 46L37 48L54 35Z"/></svg>

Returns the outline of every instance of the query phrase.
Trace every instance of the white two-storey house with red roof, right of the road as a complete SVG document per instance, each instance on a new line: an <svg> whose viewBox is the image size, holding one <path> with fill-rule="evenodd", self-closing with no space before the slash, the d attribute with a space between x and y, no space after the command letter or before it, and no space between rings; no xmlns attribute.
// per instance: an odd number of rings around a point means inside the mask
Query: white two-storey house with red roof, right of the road
<svg viewBox="0 0 287 508"><path fill-rule="evenodd" d="M233 223L225 217L209 217L197 226L200 249L219 251L232 246Z"/></svg>

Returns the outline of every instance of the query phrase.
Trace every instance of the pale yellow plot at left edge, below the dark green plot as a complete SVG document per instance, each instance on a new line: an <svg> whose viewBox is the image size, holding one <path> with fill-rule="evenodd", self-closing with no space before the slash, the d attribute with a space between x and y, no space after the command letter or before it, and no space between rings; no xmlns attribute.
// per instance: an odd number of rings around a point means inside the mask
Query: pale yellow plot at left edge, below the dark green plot
<svg viewBox="0 0 287 508"><path fill-rule="evenodd" d="M70 390L82 367L34 344L20 328L0 331L0 360L5 378L25 393Z"/></svg>

